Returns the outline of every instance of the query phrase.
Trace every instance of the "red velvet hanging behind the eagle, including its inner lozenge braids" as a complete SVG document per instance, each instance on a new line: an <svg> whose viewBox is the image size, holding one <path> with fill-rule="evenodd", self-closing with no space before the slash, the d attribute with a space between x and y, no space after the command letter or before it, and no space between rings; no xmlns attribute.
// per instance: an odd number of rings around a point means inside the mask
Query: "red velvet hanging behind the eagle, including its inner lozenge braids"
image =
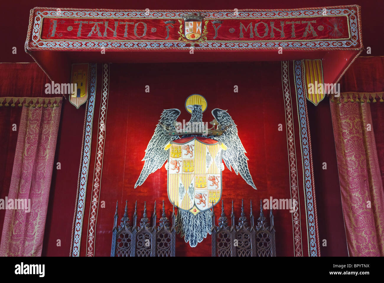
<svg viewBox="0 0 384 283"><path fill-rule="evenodd" d="M137 214L147 213L154 201L167 201L167 176L164 166L134 189L143 166L141 159L163 109L183 109L190 94L207 99L205 118L214 108L228 109L240 139L247 150L248 166L258 190L247 185L240 175L223 171L222 199L230 214L233 199L236 218L240 217L241 199L249 215L249 201L260 199L296 199L297 213L276 209L276 253L285 256L319 255L317 216L303 187L301 127L295 94L293 62L220 63L220 64L140 64L98 65L96 105L93 117L91 159L79 255L108 256L116 201L121 218L128 200L130 218L137 200ZM238 92L234 92L237 85ZM149 92L146 92L149 86ZM177 90L177 91L175 91ZM304 100L302 100L304 101ZM303 104L304 105L304 104ZM300 106L300 105L299 105ZM301 108L301 106L300 106ZM302 108L301 108L302 109ZM182 110L179 120L189 121ZM281 125L280 125L281 124ZM103 126L104 125L104 126ZM281 126L281 127L280 127ZM282 131L279 131L279 127ZM301 132L303 135L303 132ZM307 141L308 143L308 141ZM311 162L309 160L309 162ZM310 164L310 163L309 163ZM105 208L101 203L105 202ZM257 207L257 206L256 206ZM306 214L314 218L314 232L308 236ZM159 206L157 206L159 215ZM255 210L255 206L254 206ZM255 213L255 211L254 211ZM308 248L311 246L311 248ZM210 236L191 248L177 236L176 255L209 256Z"/></svg>

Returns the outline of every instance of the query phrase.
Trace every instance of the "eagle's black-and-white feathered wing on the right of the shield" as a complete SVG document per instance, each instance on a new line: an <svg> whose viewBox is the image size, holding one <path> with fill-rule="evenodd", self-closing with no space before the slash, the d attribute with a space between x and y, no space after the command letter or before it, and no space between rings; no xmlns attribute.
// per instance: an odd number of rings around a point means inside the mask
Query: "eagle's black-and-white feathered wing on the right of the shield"
<svg viewBox="0 0 384 283"><path fill-rule="evenodd" d="M223 142L223 144L227 147L227 150L223 151L222 154L225 166L227 166L230 171L232 171L232 166L236 175L240 173L240 176L242 176L245 182L252 186L252 188L256 189L248 169L248 158L245 156L247 151L245 151L244 146L237 134L237 127L235 122L227 113L227 110L215 108L212 110L212 115L221 125L222 129L224 129L226 126L229 126L221 136L209 136L211 139Z"/></svg>

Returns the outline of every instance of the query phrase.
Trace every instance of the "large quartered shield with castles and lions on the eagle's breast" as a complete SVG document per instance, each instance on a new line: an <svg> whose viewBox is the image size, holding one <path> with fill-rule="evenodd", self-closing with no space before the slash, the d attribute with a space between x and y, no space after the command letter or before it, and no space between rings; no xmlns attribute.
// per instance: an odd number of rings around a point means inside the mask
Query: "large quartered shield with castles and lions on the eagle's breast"
<svg viewBox="0 0 384 283"><path fill-rule="evenodd" d="M168 149L168 198L177 208L197 214L212 208L222 193L222 142L205 137L172 141Z"/></svg>

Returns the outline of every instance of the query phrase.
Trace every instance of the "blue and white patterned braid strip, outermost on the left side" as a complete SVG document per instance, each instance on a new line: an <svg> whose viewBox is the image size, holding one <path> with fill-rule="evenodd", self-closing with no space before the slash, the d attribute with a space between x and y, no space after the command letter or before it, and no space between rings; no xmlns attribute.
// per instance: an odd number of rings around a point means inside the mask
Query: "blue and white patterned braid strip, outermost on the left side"
<svg viewBox="0 0 384 283"><path fill-rule="evenodd" d="M83 163L81 165L81 178L79 183L79 193L76 196L78 201L76 202L76 218L74 223L74 233L73 233L73 245L71 247L72 256L80 255L80 242L81 242L81 230L83 228L83 218L84 218L84 208L85 208L85 196L86 188L88 181L88 171L89 171L89 159L91 158L91 141L92 141L92 123L93 123L93 113L95 106L95 96L96 96L96 79L97 79L97 65L91 64L91 80L89 87L89 102L88 109L86 112L86 127L84 133L84 151L82 152Z"/></svg>

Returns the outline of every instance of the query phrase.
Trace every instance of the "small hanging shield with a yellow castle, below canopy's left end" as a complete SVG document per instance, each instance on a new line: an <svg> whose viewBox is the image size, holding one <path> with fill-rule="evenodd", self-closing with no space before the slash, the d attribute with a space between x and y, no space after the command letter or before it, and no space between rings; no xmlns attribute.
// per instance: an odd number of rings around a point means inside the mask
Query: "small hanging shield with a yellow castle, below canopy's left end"
<svg viewBox="0 0 384 283"><path fill-rule="evenodd" d="M77 109L88 99L88 67L89 64L72 64L71 84L76 84L76 89L69 100Z"/></svg>

